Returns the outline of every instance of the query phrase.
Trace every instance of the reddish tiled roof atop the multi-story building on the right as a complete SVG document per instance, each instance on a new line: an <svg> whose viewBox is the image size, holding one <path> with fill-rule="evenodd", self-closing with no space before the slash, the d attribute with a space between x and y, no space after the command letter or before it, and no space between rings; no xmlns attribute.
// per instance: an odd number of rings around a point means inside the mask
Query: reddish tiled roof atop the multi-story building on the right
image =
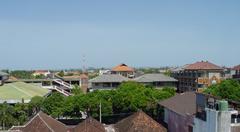
<svg viewBox="0 0 240 132"><path fill-rule="evenodd" d="M185 67L186 70L223 70L220 66L217 66L208 61L196 62Z"/></svg>

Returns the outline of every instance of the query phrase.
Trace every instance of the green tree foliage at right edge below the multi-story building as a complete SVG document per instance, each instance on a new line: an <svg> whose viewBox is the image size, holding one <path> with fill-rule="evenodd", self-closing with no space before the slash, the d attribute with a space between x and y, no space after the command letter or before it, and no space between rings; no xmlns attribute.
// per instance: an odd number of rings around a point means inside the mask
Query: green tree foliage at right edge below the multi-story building
<svg viewBox="0 0 240 132"><path fill-rule="evenodd" d="M224 80L219 84L208 87L204 93L219 96L224 99L240 101L240 83L236 80Z"/></svg>

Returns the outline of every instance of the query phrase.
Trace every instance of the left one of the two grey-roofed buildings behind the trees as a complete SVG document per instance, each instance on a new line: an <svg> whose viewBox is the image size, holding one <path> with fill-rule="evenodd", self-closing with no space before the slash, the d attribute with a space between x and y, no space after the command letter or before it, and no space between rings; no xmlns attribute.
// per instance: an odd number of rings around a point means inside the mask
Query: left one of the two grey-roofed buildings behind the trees
<svg viewBox="0 0 240 132"><path fill-rule="evenodd" d="M122 82L128 80L128 78L119 74L104 74L89 80L89 88L91 90L114 89L117 88Z"/></svg>

